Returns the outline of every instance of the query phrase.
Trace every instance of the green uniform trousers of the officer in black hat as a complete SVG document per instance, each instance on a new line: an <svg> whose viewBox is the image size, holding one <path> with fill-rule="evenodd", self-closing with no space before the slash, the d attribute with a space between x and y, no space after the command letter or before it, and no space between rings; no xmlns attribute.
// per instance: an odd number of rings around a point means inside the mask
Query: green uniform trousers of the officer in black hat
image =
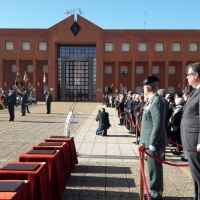
<svg viewBox="0 0 200 200"><path fill-rule="evenodd" d="M149 154L159 159L162 159L164 148L160 148L156 151L147 150ZM147 156L147 165L149 171L150 181L150 195L153 198L162 198L163 194L163 166L162 163Z"/></svg>

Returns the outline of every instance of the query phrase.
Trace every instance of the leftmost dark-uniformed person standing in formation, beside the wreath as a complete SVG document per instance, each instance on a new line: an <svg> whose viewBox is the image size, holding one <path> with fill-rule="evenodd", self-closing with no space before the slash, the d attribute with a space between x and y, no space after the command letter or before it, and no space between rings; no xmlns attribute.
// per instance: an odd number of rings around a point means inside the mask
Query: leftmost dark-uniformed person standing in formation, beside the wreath
<svg viewBox="0 0 200 200"><path fill-rule="evenodd" d="M16 94L13 92L13 89L9 89L9 93L7 95L7 105L8 105L8 111L10 114L10 120L9 121L14 121L15 114L14 114L14 106L16 104Z"/></svg>

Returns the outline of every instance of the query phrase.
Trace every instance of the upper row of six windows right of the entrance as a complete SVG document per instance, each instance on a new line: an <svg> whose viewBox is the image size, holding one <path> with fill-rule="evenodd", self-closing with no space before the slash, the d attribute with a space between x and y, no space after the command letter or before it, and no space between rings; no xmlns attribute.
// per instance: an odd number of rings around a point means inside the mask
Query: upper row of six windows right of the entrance
<svg viewBox="0 0 200 200"><path fill-rule="evenodd" d="M137 50L138 51L147 51L148 50L147 43L138 43ZM130 51L130 43L125 42L121 44L121 51L128 52ZM155 51L164 51L164 42L156 42L154 46ZM181 42L173 42L171 46L172 51L181 51ZM105 43L105 51L114 51L114 43L108 42ZM197 42L191 42L189 43L189 51L198 51L198 43Z"/></svg>

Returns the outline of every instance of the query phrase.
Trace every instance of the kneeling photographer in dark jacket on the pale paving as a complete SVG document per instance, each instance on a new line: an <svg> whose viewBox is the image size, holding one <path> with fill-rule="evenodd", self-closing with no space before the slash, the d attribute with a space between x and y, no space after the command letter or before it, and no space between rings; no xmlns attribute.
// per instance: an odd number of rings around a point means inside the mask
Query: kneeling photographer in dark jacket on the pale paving
<svg viewBox="0 0 200 200"><path fill-rule="evenodd" d="M105 108L99 110L96 117L96 121L99 121L99 127L96 130L96 135L107 136L107 130L110 127L109 114L105 111Z"/></svg>

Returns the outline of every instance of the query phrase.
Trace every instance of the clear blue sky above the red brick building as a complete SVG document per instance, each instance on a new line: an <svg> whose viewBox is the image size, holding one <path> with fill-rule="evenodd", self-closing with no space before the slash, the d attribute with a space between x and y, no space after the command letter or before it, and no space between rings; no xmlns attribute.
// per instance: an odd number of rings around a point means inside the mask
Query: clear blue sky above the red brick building
<svg viewBox="0 0 200 200"><path fill-rule="evenodd" d="M200 0L0 0L0 28L49 28L80 8L103 29L200 29Z"/></svg>

